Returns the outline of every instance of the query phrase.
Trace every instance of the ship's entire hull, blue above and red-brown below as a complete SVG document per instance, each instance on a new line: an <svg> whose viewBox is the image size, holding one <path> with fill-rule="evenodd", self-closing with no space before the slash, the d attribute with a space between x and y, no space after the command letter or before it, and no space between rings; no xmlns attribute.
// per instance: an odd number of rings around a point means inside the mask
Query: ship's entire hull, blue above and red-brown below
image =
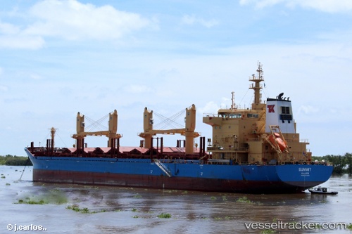
<svg viewBox="0 0 352 234"><path fill-rule="evenodd" d="M103 157L34 157L33 181L230 193L297 193L329 179L320 164L230 165Z"/></svg>

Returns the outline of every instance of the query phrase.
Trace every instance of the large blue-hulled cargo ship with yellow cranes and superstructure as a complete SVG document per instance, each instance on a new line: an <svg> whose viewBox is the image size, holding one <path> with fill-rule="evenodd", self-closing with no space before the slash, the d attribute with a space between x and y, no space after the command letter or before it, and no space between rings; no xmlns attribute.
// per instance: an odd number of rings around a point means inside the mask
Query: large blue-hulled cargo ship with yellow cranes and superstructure
<svg viewBox="0 0 352 234"><path fill-rule="evenodd" d="M312 161L308 141L296 131L291 100L284 93L261 100L260 63L249 81L251 108L239 108L232 92L230 108L203 114L203 123L212 128L207 141L195 131L195 105L185 110L184 128L167 130L154 129L153 111L145 108L137 147L120 146L116 110L109 114L107 131L85 131L78 112L73 148L56 147L54 127L45 146L32 142L25 148L33 181L226 193L299 193L327 181L332 165ZM184 140L165 147L159 134L180 134ZM106 136L108 143L89 148L86 136Z"/></svg>

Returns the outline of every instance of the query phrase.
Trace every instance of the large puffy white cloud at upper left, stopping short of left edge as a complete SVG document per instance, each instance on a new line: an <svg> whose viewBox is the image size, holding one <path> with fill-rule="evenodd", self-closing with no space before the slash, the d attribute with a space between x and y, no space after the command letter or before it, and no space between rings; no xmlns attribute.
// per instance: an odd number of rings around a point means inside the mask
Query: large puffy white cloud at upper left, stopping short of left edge
<svg viewBox="0 0 352 234"><path fill-rule="evenodd" d="M135 13L118 11L112 6L97 7L78 1L40 1L30 8L37 22L26 34L64 39L119 39L151 22Z"/></svg>

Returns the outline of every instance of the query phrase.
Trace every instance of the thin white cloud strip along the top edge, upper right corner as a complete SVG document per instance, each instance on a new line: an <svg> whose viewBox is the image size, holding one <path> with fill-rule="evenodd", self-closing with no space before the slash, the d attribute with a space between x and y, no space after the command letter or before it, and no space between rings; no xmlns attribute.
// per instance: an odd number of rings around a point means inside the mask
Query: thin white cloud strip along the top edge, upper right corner
<svg viewBox="0 0 352 234"><path fill-rule="evenodd" d="M347 12L352 10L351 0L240 0L239 4L254 4L257 8L284 4L289 8L300 6L302 8L313 8L328 13Z"/></svg>

